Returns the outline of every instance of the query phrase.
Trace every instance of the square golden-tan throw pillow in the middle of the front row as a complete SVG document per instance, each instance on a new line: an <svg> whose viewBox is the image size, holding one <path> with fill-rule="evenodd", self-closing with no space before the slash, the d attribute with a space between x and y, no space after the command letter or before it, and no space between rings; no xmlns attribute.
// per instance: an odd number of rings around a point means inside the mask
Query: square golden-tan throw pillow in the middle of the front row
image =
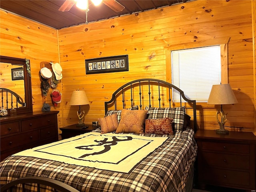
<svg viewBox="0 0 256 192"><path fill-rule="evenodd" d="M147 110L122 109L116 133L143 133Z"/></svg>

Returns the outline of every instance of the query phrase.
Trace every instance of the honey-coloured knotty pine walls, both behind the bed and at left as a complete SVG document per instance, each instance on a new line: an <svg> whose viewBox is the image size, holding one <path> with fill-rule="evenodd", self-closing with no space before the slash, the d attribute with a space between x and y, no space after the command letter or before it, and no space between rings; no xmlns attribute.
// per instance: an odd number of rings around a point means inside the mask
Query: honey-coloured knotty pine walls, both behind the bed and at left
<svg viewBox="0 0 256 192"><path fill-rule="evenodd" d="M78 107L69 105L72 91L78 88L85 90L90 105L83 106L86 111L84 122L91 123L104 116L104 102L110 100L112 92L126 82L138 78L170 81L171 50L219 44L228 42L230 38L227 58L228 82L234 90L238 104L224 106L225 112L228 113L226 126L229 130L256 132L256 13L253 6L255 2L244 0L196 0L88 25L64 28L58 32L46 26L40 26L39 30L39 24L1 12L1 22L2 17L6 19L6 22L1 23L1 54L4 46L4 55L30 59L33 75L32 94L36 102L33 108L40 110L42 100L38 94L40 88L37 74L40 62L58 62L59 46L59 63L63 69L63 79L59 88L62 92L62 103L56 110L60 110L58 120L59 127L62 127L77 123ZM12 36L7 36L8 30L5 28L8 27L2 27L3 23L14 28L16 32ZM27 28L27 25L34 26L34 30ZM20 28L26 30L24 36L29 39L29 43L22 44L16 39L18 34L23 35ZM2 37L2 34L6 37ZM38 39L34 40L38 34L42 36L40 45ZM49 34L52 39L48 38ZM15 40L8 42L10 39ZM31 40L33 43L30 45ZM34 45L35 42L37 45ZM30 48L21 50L27 43ZM9 45L14 47L15 52L8 48ZM85 59L124 54L129 56L128 72L86 75ZM198 103L199 128L218 128L215 117L218 107Z"/></svg>

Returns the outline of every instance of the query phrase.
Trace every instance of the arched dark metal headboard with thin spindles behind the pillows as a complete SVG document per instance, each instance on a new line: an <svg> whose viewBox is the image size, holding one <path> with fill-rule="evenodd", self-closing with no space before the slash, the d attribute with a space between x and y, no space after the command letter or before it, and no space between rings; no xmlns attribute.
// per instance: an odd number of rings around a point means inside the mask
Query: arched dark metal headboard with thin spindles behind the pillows
<svg viewBox="0 0 256 192"><path fill-rule="evenodd" d="M193 108L193 118L194 118L194 131L196 131L197 128L197 124L196 124L196 100L190 100L188 98L186 98L186 96L184 95L184 92L182 90L180 90L178 87L174 86L173 84L170 84L168 82L165 82L163 80L158 80L158 79L151 79L151 78L145 78L145 79L138 79L138 80L134 80L131 82L128 82L126 84L124 84L123 86L121 86L120 88L118 88L113 94L112 94L112 98L110 101L105 102L105 114L108 111L108 105L109 104L114 104L114 108L117 109L117 104L116 104L116 97L119 96L120 94L122 95L122 108L125 108L126 104L125 104L125 100L124 100L124 92L128 92L128 90L130 89L130 102L131 102L131 106L134 105L134 96L133 96L133 88L134 87L138 87L139 88L139 107L140 109L142 109L142 98L144 98L145 96L142 95L142 90L141 90L141 86L142 84L145 83L148 84L148 106L151 107L151 90L150 90L150 86L154 85L156 86L156 84L158 85L158 101L159 101L159 107L161 107L161 93L160 93L160 88L161 87L166 87L167 91L166 91L166 97L168 97L168 102L169 102L169 107L171 108L171 103L172 103L172 89L177 90L180 93L180 106L182 106L182 98L188 102L192 104L192 108ZM145 93L145 91L143 91L143 93Z"/></svg>

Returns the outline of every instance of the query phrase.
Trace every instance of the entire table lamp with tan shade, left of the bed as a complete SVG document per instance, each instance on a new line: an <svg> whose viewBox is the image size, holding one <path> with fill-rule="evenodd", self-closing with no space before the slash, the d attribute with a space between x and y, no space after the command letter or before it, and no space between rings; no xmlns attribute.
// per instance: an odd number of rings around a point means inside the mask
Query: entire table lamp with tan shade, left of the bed
<svg viewBox="0 0 256 192"><path fill-rule="evenodd" d="M84 117L84 110L81 110L80 106L88 105L89 101L84 90L81 91L78 89L76 91L73 91L69 104L79 105L79 110L77 111L78 124L76 124L76 126L85 126L85 124L82 122L82 118Z"/></svg>

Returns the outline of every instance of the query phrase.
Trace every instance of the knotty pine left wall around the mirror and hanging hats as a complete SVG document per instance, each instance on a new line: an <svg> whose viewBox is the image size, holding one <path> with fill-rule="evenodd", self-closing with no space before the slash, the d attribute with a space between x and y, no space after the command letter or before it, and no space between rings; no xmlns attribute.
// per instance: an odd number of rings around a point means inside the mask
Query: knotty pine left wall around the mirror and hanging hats
<svg viewBox="0 0 256 192"><path fill-rule="evenodd" d="M59 62L57 30L37 22L0 10L1 55L30 60L33 111L41 111L43 99L40 89L40 63ZM15 81L17 82L17 81ZM1 87L5 82L1 81ZM61 86L58 86L60 89ZM46 102L51 110L59 110L58 127L62 127L62 104L53 107L48 92Z"/></svg>

